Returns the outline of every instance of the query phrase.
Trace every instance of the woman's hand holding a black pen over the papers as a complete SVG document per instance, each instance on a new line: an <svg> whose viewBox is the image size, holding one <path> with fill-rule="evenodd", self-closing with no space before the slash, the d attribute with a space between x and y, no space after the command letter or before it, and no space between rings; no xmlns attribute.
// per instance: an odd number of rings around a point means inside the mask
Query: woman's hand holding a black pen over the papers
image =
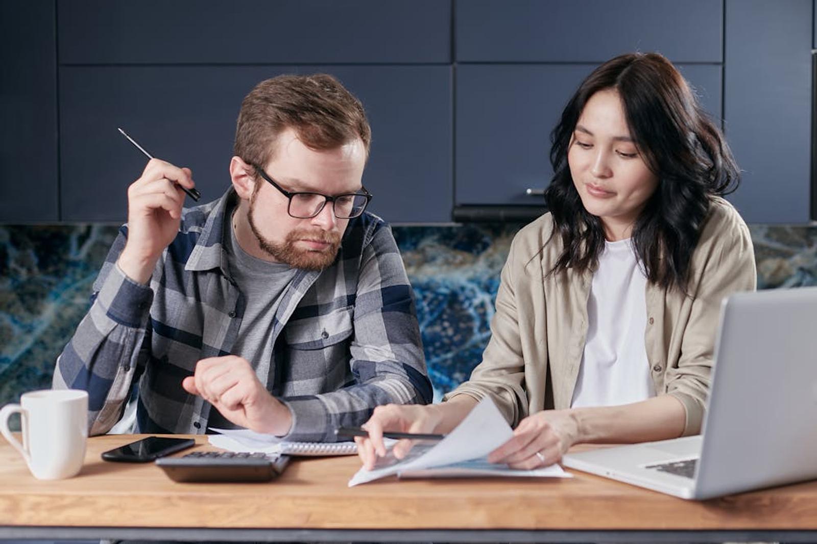
<svg viewBox="0 0 817 544"><path fill-rule="evenodd" d="M368 431L368 438L355 436L360 461L371 471L378 457L386 455L383 432L434 432L443 420L438 405L385 405L377 406L362 426ZM395 457L402 459L414 445L413 440L400 440L391 450Z"/></svg>

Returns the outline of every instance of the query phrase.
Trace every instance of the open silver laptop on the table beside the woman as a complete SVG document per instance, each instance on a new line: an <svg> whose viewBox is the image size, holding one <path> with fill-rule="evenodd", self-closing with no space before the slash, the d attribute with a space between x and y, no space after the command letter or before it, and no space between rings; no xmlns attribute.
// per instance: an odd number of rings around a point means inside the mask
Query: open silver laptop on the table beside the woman
<svg viewBox="0 0 817 544"><path fill-rule="evenodd" d="M690 499L817 478L817 287L730 296L715 360L701 435L562 463Z"/></svg>

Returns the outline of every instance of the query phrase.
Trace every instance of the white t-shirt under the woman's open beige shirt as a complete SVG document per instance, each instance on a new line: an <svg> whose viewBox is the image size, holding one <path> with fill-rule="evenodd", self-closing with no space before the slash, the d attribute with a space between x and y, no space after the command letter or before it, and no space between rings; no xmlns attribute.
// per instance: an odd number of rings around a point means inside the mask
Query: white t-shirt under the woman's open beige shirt
<svg viewBox="0 0 817 544"><path fill-rule="evenodd" d="M655 396L644 343L646 286L632 240L605 242L587 299L587 342L571 407Z"/></svg>

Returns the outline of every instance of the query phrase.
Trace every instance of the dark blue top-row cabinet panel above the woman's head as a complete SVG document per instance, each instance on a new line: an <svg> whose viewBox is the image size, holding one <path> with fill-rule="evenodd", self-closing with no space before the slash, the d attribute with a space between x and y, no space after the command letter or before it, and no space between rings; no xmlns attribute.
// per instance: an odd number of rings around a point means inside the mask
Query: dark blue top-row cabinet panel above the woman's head
<svg viewBox="0 0 817 544"><path fill-rule="evenodd" d="M467 0L455 4L458 62L603 62L660 51L722 60L721 0Z"/></svg>

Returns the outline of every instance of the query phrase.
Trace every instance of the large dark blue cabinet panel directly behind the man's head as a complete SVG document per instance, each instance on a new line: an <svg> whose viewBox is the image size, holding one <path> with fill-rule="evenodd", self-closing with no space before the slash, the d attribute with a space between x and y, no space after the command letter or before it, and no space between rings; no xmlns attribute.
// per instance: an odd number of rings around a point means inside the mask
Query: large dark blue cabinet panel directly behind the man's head
<svg viewBox="0 0 817 544"><path fill-rule="evenodd" d="M145 157L189 166L212 201L230 185L244 95L279 73L329 72L367 108L373 144L364 184L390 222L446 221L451 211L448 66L66 66L60 69L62 217L124 222L127 186ZM433 197L429 197L433 195ZM187 205L193 202L188 200Z"/></svg>

